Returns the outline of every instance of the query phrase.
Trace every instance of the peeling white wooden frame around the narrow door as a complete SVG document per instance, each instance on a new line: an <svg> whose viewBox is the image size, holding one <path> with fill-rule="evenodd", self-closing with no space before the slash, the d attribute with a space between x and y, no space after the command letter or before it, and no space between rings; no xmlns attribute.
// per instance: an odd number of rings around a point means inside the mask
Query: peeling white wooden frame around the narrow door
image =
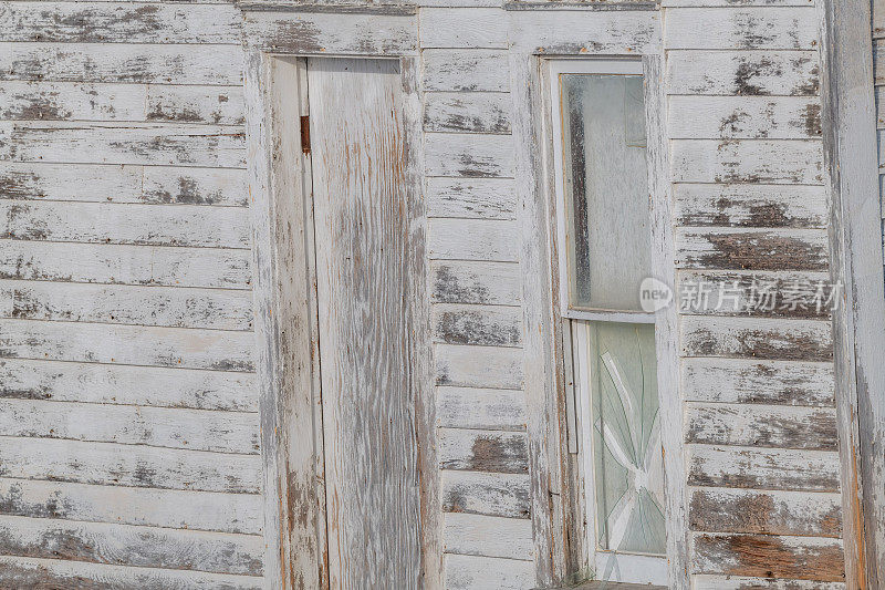
<svg viewBox="0 0 885 590"><path fill-rule="evenodd" d="M308 164L300 145L302 104L292 99L302 94L298 76L293 75L299 58L341 56L399 60L406 126L405 213L413 255L408 271L414 278L406 299L414 327L409 365L415 375L421 569L424 587L440 588L416 10L379 7L327 12L310 7L283 11L261 6L241 8L246 17L246 128L256 366L264 465L266 587L289 590L329 584L322 424L315 417L321 412L321 400L313 393L319 376L314 365L319 348L310 320L304 321L312 304L310 289L304 286L315 289L311 270L303 263L305 257L310 258L306 245L313 240L313 224L311 207L306 205L310 194L302 184ZM315 318L315 310L312 315ZM304 437L304 432L311 435ZM304 444L292 445L299 436Z"/></svg>

